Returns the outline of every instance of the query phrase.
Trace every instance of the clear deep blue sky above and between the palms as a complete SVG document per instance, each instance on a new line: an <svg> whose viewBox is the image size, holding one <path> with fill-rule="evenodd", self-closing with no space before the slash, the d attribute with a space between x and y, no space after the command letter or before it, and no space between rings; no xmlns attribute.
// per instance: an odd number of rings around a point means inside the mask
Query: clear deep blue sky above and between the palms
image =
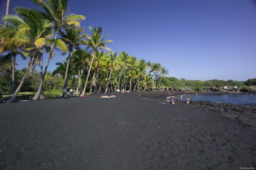
<svg viewBox="0 0 256 170"><path fill-rule="evenodd" d="M30 0L15 6L36 7ZM6 0L0 0L0 16ZM159 62L169 75L189 80L256 77L255 0L70 0L70 12L86 16L81 26L102 26L113 51ZM49 70L65 56L56 52ZM46 60L46 58L44 59ZM27 61L17 60L18 69Z"/></svg>

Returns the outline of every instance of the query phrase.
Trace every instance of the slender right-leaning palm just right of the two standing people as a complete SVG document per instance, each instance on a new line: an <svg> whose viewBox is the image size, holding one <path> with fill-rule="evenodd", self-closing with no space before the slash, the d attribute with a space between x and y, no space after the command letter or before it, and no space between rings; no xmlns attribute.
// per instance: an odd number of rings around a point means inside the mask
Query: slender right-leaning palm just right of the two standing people
<svg viewBox="0 0 256 170"><path fill-rule="evenodd" d="M88 78L90 75L90 69L92 68L93 59L96 55L97 50L98 49L107 49L107 50L111 51L110 48L106 47L106 44L109 42L113 42L112 40L105 41L106 36L102 36L102 27L99 27L98 29L96 29L95 26L93 26L93 28L89 26L88 29L90 30L92 35L91 36L86 35L86 40L84 41L84 43L87 47L92 48L93 54L92 54L92 61L90 63L90 67L88 69L87 77L85 80L85 86L83 87L83 91L80 96L85 95L87 81L88 81Z"/></svg>

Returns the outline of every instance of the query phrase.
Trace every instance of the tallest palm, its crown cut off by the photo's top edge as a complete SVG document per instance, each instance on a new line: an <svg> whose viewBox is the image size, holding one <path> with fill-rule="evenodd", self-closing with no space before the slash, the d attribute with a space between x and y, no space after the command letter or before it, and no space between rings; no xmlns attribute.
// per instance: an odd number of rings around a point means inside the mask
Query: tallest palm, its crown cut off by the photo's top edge
<svg viewBox="0 0 256 170"><path fill-rule="evenodd" d="M49 19L51 22L54 23L54 27L53 27L55 31L54 39L57 39L58 33L62 28L70 25L79 26L80 25L79 21L81 21L81 19L83 20L85 19L85 16L83 15L68 14L69 12L68 0L47 0L46 2L43 0L32 0L32 1L43 8L44 10L43 15L45 16L45 18ZM53 48L54 46L51 46L50 51L48 53L48 59L46 62L45 70L43 72L43 76L41 78L38 91L33 97L33 100L39 99L41 89L43 87L43 81L45 79L45 74L46 74L50 59L53 57Z"/></svg>

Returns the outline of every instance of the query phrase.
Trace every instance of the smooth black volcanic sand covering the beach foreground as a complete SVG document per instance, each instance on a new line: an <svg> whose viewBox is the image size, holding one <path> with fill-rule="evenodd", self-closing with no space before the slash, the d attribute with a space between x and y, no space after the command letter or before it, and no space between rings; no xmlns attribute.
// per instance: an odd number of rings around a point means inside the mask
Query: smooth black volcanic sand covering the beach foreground
<svg viewBox="0 0 256 170"><path fill-rule="evenodd" d="M142 94L0 104L0 169L256 167L248 125Z"/></svg>

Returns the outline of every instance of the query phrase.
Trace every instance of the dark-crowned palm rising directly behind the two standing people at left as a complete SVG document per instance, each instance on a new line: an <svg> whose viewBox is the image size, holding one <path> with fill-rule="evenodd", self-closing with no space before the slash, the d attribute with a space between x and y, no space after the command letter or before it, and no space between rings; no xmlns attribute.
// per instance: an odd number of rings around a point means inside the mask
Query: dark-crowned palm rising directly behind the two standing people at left
<svg viewBox="0 0 256 170"><path fill-rule="evenodd" d="M68 66L70 64L71 53L73 52L73 48L79 49L79 45L83 44L83 41L81 40L83 38L83 35L81 35L81 33L84 33L84 31L80 27L76 26L70 26L67 28L64 27L63 30L65 32L60 31L61 40L63 40L67 44L69 51L63 86L63 88L67 88L66 80L68 75Z"/></svg>

